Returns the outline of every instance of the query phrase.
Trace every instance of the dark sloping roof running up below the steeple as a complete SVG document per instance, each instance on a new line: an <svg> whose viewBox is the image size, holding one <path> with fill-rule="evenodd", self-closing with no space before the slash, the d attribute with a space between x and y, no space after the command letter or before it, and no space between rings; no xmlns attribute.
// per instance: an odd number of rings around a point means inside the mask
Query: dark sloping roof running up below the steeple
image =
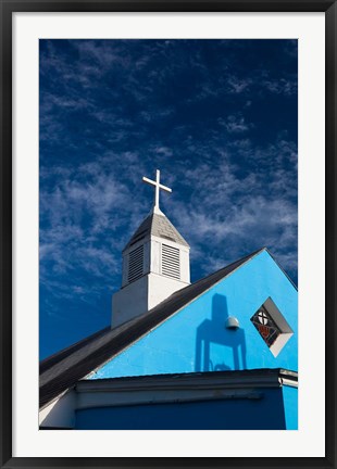
<svg viewBox="0 0 337 469"><path fill-rule="evenodd" d="M102 329L46 358L40 365L40 407L72 388L79 379L85 378L262 251L265 251L265 248L178 290L146 315L114 329Z"/></svg>

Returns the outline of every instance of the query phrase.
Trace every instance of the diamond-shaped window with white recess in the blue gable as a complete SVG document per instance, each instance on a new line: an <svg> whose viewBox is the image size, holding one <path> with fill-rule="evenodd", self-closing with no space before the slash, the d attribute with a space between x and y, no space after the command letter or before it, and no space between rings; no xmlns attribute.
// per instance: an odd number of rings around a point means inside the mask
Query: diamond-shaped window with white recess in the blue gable
<svg viewBox="0 0 337 469"><path fill-rule="evenodd" d="M273 300L269 297L250 318L261 338L276 357L294 334Z"/></svg>

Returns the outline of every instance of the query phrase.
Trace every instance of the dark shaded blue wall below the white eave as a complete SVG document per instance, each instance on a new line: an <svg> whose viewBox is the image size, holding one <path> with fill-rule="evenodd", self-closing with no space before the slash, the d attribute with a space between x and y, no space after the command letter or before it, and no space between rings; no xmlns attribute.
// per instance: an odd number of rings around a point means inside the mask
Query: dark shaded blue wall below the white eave
<svg viewBox="0 0 337 469"><path fill-rule="evenodd" d="M284 430L282 389L261 398L101 407L76 411L83 430ZM272 409L272 411L271 411Z"/></svg>

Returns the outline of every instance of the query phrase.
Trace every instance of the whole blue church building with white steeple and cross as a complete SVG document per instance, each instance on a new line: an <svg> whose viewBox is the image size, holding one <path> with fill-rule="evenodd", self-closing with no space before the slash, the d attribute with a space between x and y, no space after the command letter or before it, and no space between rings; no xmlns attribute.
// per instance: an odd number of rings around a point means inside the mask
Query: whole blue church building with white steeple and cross
<svg viewBox="0 0 337 469"><path fill-rule="evenodd" d="M40 363L40 429L297 430L297 288L265 248L190 283L143 180L111 326Z"/></svg>

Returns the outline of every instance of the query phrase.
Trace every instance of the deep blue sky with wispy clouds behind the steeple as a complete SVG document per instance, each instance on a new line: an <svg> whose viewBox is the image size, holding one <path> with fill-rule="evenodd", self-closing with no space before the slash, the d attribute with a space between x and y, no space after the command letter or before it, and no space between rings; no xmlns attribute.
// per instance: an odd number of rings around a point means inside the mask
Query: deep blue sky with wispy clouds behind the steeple
<svg viewBox="0 0 337 469"><path fill-rule="evenodd" d="M40 357L110 324L161 208L191 281L267 246L297 281L297 41L40 40Z"/></svg>

